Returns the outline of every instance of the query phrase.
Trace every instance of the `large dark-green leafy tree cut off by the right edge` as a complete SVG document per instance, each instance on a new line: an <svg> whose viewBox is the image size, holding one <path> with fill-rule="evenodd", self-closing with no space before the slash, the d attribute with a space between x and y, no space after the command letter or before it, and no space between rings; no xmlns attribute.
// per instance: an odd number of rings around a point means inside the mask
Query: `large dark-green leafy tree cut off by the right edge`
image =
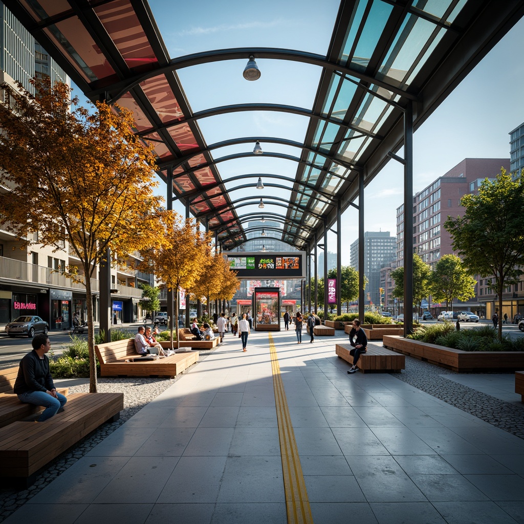
<svg viewBox="0 0 524 524"><path fill-rule="evenodd" d="M505 169L494 180L485 179L476 194L460 200L463 216L447 217L444 227L453 239L453 249L474 275L494 277L498 311L504 289L519 281L524 265L524 170L511 180ZM498 324L502 340L502 323Z"/></svg>

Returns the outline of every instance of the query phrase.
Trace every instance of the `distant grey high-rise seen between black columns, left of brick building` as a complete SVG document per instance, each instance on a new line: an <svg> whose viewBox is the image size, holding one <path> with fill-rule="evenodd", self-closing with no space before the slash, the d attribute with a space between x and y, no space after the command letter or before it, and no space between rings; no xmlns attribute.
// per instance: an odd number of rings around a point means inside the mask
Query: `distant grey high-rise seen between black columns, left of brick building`
<svg viewBox="0 0 524 524"><path fill-rule="evenodd" d="M364 233L364 275L368 279L366 285L366 302L375 305L380 304L380 268L384 264L395 260L397 239L390 236L389 231L366 231ZM358 239L350 247L351 265L357 270L358 267Z"/></svg>

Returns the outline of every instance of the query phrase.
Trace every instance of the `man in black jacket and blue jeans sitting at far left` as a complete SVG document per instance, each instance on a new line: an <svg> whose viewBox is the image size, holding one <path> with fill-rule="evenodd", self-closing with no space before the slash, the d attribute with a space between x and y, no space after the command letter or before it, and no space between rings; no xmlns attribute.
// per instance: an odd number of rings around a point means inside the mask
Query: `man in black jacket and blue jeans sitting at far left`
<svg viewBox="0 0 524 524"><path fill-rule="evenodd" d="M67 398L57 392L49 371L49 358L46 356L51 349L49 337L43 333L36 335L31 345L33 350L20 361L13 391L21 402L46 408L35 420L43 422L62 410Z"/></svg>

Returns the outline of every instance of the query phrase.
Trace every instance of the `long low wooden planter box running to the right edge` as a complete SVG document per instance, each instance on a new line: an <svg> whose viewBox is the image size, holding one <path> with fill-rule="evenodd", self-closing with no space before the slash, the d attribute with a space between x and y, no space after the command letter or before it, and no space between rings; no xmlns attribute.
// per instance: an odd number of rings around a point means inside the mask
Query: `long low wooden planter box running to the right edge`
<svg viewBox="0 0 524 524"><path fill-rule="evenodd" d="M524 351L462 351L401 336L385 335L384 347L459 373L524 369Z"/></svg>

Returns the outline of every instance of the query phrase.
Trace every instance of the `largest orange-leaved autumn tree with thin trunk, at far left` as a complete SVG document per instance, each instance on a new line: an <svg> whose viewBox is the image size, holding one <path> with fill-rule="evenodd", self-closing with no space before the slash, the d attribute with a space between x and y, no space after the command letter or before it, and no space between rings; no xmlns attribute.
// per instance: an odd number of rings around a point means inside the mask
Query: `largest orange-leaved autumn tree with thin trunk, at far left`
<svg viewBox="0 0 524 524"><path fill-rule="evenodd" d="M110 248L127 256L144 248L160 205L152 192L155 157L133 133L125 108L72 101L71 88L34 82L36 94L2 85L0 102L0 213L25 246L69 250L80 259L88 314L90 391L96 392L91 278Z"/></svg>

